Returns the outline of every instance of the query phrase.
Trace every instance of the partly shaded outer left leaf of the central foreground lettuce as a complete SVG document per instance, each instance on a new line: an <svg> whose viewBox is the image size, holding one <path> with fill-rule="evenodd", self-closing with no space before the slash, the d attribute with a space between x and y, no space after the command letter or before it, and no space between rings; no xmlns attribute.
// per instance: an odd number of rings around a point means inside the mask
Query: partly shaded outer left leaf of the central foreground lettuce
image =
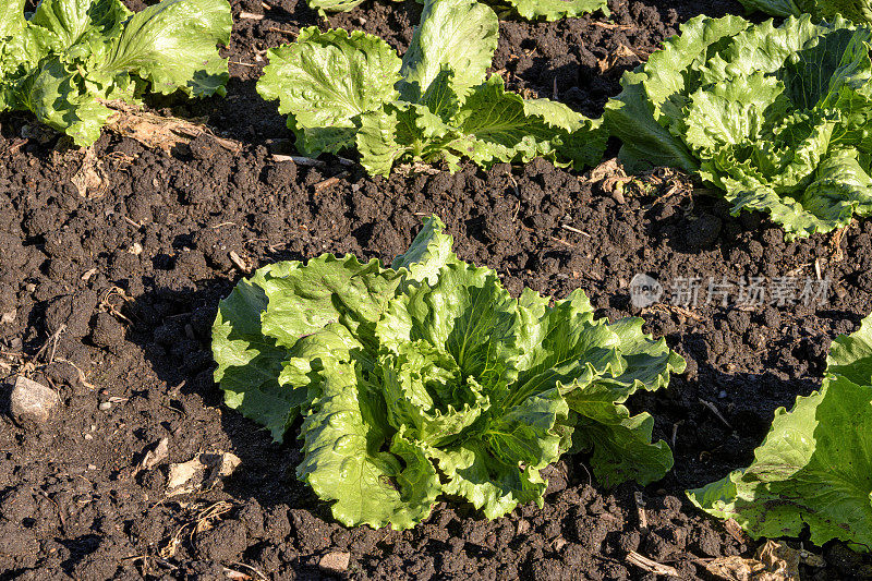
<svg viewBox="0 0 872 581"><path fill-rule="evenodd" d="M305 392L279 386L288 353L261 327L261 315L269 302L264 286L267 279L296 268L300 263L277 263L240 281L219 303L213 326L213 356L218 363L215 382L225 391L225 403L264 425L277 441L296 416Z"/></svg>

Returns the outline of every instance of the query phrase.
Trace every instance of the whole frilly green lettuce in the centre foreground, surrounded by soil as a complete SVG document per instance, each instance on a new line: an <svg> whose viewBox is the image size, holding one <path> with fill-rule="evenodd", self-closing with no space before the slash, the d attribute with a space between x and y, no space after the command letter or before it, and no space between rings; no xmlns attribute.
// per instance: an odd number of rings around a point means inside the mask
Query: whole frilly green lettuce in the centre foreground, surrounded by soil
<svg viewBox="0 0 872 581"><path fill-rule="evenodd" d="M661 479L671 451L623 402L685 361L580 291L513 299L451 244L431 218L389 268L327 254L242 280L213 335L227 404L276 440L302 414L296 475L347 525L410 528L440 495L488 518L542 506L568 450L606 485Z"/></svg>

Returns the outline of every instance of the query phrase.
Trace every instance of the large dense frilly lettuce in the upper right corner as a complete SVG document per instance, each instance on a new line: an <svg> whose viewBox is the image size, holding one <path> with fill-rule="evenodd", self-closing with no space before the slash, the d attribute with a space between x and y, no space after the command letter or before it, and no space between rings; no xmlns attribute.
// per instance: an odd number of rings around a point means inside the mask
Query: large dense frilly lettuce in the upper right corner
<svg viewBox="0 0 872 581"><path fill-rule="evenodd" d="M788 238L872 211L872 28L697 17L621 80L608 131L630 170L665 165L761 210Z"/></svg>

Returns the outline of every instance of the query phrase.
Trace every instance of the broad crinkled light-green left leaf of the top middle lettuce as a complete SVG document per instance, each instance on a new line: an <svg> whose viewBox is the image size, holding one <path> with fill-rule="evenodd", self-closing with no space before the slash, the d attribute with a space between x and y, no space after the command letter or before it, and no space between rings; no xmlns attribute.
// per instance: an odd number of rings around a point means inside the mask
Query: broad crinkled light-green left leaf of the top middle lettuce
<svg viewBox="0 0 872 581"><path fill-rule="evenodd" d="M397 97L399 57L359 31L310 26L293 44L269 49L268 58L257 92L279 99L279 112L292 116L289 124L305 135L308 155L353 147L358 117Z"/></svg>

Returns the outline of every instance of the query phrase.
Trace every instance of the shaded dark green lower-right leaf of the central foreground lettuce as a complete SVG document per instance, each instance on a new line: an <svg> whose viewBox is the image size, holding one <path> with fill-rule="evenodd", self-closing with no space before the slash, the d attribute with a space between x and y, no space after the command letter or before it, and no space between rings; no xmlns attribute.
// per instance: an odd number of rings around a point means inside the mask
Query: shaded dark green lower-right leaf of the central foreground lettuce
<svg viewBox="0 0 872 581"><path fill-rule="evenodd" d="M566 400L574 412L573 449L593 452L591 469L603 485L634 480L644 486L673 468L669 446L663 440L651 443L654 419L647 413L630 416L606 384L579 387Z"/></svg>

